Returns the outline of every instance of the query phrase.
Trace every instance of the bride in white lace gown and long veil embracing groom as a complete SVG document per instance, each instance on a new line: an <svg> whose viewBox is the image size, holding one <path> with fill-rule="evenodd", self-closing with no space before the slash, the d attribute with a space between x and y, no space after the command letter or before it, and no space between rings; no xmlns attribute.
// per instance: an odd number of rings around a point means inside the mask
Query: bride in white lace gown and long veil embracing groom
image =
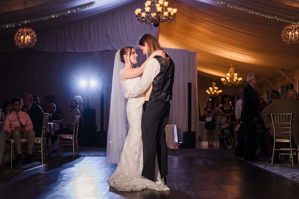
<svg viewBox="0 0 299 199"><path fill-rule="evenodd" d="M152 53L149 58L155 55L165 56L164 52L159 50ZM124 98L125 91L123 88L129 90L139 82L147 63L145 61L141 67L133 68L133 65L137 64L137 56L133 47L123 47L115 55L108 127L107 163L118 163L118 166L107 181L109 186L118 191L139 191L142 189L166 191L170 189L167 185L164 185L164 181L161 179L157 161L155 182L141 176L143 168L141 114L145 94L130 98L128 101ZM129 122L127 136L126 120Z"/></svg>

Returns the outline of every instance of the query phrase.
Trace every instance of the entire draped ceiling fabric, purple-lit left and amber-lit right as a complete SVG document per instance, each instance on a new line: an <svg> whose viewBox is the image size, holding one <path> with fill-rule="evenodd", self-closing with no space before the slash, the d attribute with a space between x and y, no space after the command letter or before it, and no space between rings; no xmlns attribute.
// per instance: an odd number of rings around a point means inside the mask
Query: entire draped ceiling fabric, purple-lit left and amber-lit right
<svg viewBox="0 0 299 199"><path fill-rule="evenodd" d="M25 15L23 3L20 0L0 2L0 52L17 50L12 40L17 28L4 29L5 24L67 12L92 3L93 6L76 13L29 23L28 26L38 33L34 49L57 52L117 50L120 46L132 45L144 31L157 34L157 28L131 23L135 18L133 11L143 8L144 0L28 0ZM199 71L225 76L231 55L233 67L243 78L256 72L273 80L281 76L277 68L286 73L297 69L299 47L288 46L281 40L280 32L288 23L277 21L275 17L292 21L293 15L294 22L299 22L298 1L170 0L169 5L179 9L178 22L160 24L159 40L164 47L198 52ZM125 16L120 18L120 14ZM260 80L263 84L263 78Z"/></svg>

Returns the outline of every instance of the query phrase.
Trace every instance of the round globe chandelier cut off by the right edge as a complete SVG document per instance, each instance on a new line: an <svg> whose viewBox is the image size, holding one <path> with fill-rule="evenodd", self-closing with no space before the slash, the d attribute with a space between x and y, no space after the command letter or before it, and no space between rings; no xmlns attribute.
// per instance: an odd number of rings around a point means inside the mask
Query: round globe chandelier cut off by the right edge
<svg viewBox="0 0 299 199"><path fill-rule="evenodd" d="M289 45L299 44L299 24L290 24L283 28L281 32L282 41Z"/></svg>

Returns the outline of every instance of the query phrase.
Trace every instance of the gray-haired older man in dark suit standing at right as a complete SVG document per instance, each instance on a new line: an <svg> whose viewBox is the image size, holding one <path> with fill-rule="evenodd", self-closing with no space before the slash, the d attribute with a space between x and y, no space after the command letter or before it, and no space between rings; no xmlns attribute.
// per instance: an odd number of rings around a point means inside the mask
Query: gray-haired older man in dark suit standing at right
<svg viewBox="0 0 299 199"><path fill-rule="evenodd" d="M259 160L255 156L257 151L257 122L259 116L259 98L255 87L259 83L259 77L251 73L247 76L248 84L242 92L242 113L241 121L245 127L245 152L244 160Z"/></svg>

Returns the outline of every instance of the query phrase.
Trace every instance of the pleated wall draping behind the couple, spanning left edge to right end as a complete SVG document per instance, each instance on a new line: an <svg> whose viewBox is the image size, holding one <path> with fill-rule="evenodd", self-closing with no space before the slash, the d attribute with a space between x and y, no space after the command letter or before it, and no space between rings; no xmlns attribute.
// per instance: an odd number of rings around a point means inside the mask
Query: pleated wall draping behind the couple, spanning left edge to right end
<svg viewBox="0 0 299 199"><path fill-rule="evenodd" d="M164 49L175 63L175 82L173 100L168 124L176 124L179 141L182 132L187 131L187 84L192 82L192 130L198 131L197 103L197 55L196 52L184 49ZM64 116L69 110L69 99L75 95L83 98L84 107L96 110L96 124L100 129L100 92L104 93L104 130L108 130L112 72L116 51L105 50L97 52L41 52L36 50L19 50L10 53L0 53L3 60L1 76L2 87L0 103L10 101L14 96L30 92L40 97L54 95L60 103ZM138 65L146 56L137 49ZM14 81L12 81L14 79ZM96 79L97 86L93 89L80 87L81 79ZM100 83L104 84L103 91Z"/></svg>

